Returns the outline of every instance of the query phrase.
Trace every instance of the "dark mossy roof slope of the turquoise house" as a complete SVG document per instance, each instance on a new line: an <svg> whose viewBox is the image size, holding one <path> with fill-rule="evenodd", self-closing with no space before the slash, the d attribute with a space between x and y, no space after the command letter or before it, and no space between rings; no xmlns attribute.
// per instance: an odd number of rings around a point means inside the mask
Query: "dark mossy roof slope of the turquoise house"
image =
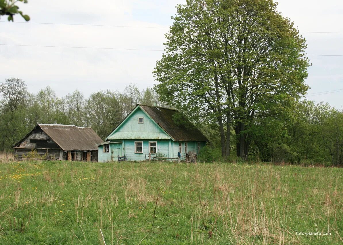
<svg viewBox="0 0 343 245"><path fill-rule="evenodd" d="M175 124L173 115L177 110L157 106L139 105L175 141L209 141L196 127L188 129Z"/></svg>

